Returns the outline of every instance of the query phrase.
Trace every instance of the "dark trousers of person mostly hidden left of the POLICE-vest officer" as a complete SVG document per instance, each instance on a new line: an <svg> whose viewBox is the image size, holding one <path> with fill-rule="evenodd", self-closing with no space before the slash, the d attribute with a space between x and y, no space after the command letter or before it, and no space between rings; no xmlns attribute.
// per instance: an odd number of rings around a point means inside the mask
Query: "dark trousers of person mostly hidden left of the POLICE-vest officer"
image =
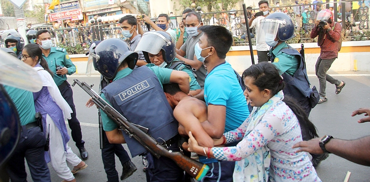
<svg viewBox="0 0 370 182"><path fill-rule="evenodd" d="M130 157L127 154L127 151L121 144L111 144L107 139L107 135L105 132L104 134L104 149L102 149L102 159L104 164L104 170L107 174L108 182L119 182L118 180L118 173L115 170L115 157L114 154L117 155L119 161L123 166L124 163L130 161Z"/></svg>

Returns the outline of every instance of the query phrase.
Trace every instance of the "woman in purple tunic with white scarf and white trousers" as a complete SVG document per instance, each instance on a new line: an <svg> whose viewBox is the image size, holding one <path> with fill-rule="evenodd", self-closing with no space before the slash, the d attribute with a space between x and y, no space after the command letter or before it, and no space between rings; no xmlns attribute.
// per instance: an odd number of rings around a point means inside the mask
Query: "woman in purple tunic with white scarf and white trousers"
<svg viewBox="0 0 370 182"><path fill-rule="evenodd" d="M51 162L63 182L75 182L73 174L87 165L73 153L68 141L65 119L71 118L72 109L63 99L51 75L42 51L37 44L28 44L22 51L22 61L32 66L42 80L42 89L34 93L35 108L42 114L42 124L46 137L50 138L49 150L45 151L46 162ZM67 161L74 165L71 171Z"/></svg>

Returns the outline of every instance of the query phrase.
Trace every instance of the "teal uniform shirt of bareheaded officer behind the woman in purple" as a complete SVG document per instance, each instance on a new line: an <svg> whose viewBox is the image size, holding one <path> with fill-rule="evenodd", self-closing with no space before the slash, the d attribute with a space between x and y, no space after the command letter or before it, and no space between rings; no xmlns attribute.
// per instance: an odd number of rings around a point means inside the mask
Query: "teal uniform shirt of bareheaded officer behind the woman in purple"
<svg viewBox="0 0 370 182"><path fill-rule="evenodd" d="M67 68L67 74L69 75L76 72L76 67L72 63L71 58L65 48L51 47L49 55L46 57L44 54L42 54L42 57L46 60L49 69L54 73L53 78L57 86L61 85L67 80L67 75L57 75L56 65Z"/></svg>

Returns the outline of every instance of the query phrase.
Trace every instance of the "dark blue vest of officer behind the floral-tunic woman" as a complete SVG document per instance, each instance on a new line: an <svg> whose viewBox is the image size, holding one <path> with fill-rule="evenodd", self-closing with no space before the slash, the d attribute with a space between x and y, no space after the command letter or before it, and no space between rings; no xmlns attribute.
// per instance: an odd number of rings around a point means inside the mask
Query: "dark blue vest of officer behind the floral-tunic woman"
<svg viewBox="0 0 370 182"><path fill-rule="evenodd" d="M307 77L306 71L306 64L302 55L294 48L288 45L288 48L283 48L279 51L279 53L285 53L289 55L294 55L300 60L299 68L297 69L296 73L291 76L288 73L283 73L282 76L284 78L285 87L283 89L284 95L289 95L295 98L297 101L302 101L305 98L309 98L312 89L310 88L310 82ZM279 54L278 53L278 54ZM274 58L271 56L271 62L273 62Z"/></svg>

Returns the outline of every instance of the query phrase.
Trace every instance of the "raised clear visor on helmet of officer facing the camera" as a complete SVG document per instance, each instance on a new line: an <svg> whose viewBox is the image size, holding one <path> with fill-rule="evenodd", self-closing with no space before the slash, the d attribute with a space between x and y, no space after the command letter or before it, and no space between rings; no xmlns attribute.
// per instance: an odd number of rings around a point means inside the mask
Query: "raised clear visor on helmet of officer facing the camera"
<svg viewBox="0 0 370 182"><path fill-rule="evenodd" d="M150 41L150 43L149 43ZM163 45L171 44L172 42L165 36L154 31L147 32L143 35L135 49L135 52L144 51L150 54L158 54Z"/></svg>

